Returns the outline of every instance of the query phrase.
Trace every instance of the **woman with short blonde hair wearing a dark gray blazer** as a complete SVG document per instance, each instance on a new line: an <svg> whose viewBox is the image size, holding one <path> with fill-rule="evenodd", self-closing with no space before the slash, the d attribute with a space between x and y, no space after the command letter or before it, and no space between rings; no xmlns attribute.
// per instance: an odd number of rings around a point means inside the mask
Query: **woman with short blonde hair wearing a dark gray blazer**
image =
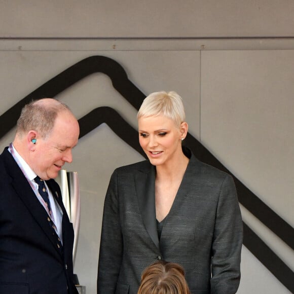
<svg viewBox="0 0 294 294"><path fill-rule="evenodd" d="M150 94L137 118L149 160L112 174L97 292L136 294L144 268L166 260L183 266L191 293L236 293L243 232L232 177L181 145L188 124L177 93Z"/></svg>

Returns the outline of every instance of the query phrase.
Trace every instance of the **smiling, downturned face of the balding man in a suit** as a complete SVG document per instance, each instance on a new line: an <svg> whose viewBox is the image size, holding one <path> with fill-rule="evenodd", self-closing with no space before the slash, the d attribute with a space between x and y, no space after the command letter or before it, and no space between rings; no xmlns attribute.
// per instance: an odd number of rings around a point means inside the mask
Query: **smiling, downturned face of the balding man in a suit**
<svg viewBox="0 0 294 294"><path fill-rule="evenodd" d="M56 178L65 162L72 161L72 148L77 145L80 128L69 112L58 114L47 138L38 138L31 157L31 168L43 179Z"/></svg>

